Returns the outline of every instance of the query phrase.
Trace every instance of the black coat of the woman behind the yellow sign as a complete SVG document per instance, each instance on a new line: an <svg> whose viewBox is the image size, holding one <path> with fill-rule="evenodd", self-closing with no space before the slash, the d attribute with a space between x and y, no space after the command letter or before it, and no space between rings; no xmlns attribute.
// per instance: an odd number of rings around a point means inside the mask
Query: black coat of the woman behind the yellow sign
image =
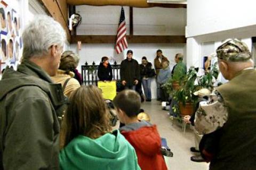
<svg viewBox="0 0 256 170"><path fill-rule="evenodd" d="M111 81L113 79L111 65L108 64L108 67L106 68L105 66L103 66L103 63L101 62L98 68L98 77L100 81Z"/></svg>

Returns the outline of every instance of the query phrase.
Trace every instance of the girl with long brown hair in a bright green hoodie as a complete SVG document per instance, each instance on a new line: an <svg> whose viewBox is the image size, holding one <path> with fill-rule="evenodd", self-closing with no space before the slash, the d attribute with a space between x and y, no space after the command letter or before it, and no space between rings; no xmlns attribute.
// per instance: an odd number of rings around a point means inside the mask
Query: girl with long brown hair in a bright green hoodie
<svg viewBox="0 0 256 170"><path fill-rule="evenodd" d="M116 129L97 86L81 86L69 98L60 132L60 169L137 170L137 155Z"/></svg>

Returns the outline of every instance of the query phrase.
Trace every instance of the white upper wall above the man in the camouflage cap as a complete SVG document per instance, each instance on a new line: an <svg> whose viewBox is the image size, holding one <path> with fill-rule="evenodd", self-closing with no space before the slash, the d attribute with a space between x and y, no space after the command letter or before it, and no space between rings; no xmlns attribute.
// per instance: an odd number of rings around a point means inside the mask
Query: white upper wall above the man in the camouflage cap
<svg viewBox="0 0 256 170"><path fill-rule="evenodd" d="M199 7L200 6L200 7ZM215 52L227 38L238 38L252 48L256 35L256 1L188 0L187 65L202 67L203 56Z"/></svg>

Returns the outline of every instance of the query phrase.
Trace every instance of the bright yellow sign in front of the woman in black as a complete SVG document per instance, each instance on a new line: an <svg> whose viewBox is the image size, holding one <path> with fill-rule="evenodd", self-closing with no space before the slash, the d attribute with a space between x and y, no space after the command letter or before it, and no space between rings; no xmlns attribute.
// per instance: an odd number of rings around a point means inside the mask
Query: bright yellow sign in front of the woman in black
<svg viewBox="0 0 256 170"><path fill-rule="evenodd" d="M98 82L98 87L102 90L104 99L113 100L116 96L116 81Z"/></svg>

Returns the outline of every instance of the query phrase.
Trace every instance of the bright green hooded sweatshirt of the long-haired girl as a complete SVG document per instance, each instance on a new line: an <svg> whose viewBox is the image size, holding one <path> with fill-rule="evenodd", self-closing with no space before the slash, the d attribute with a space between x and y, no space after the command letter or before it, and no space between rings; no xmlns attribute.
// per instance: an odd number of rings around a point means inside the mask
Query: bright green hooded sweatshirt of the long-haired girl
<svg viewBox="0 0 256 170"><path fill-rule="evenodd" d="M117 130L98 139L79 135L60 151L60 168L140 170L135 150Z"/></svg>

